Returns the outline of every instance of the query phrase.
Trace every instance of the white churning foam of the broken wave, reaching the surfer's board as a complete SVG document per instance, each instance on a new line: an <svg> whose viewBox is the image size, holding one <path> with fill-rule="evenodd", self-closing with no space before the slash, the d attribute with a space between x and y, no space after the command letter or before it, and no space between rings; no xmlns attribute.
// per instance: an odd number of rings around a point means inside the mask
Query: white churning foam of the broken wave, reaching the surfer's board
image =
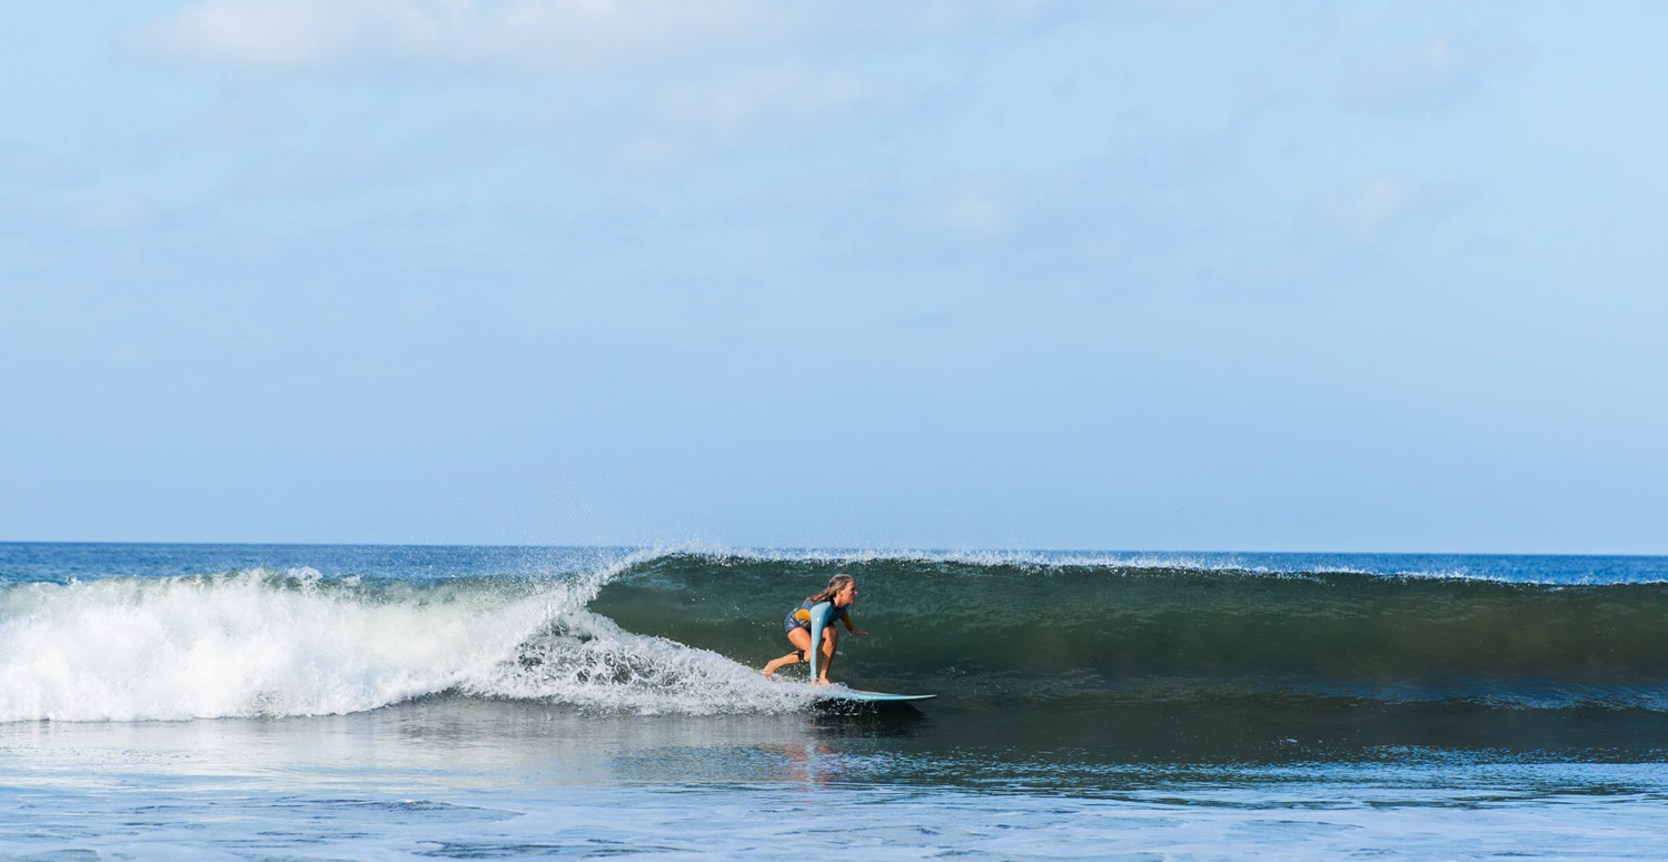
<svg viewBox="0 0 1668 862"><path fill-rule="evenodd" d="M449 690L697 714L807 700L584 612L614 569L514 589L307 569L17 585L0 592L0 722L324 715Z"/></svg>

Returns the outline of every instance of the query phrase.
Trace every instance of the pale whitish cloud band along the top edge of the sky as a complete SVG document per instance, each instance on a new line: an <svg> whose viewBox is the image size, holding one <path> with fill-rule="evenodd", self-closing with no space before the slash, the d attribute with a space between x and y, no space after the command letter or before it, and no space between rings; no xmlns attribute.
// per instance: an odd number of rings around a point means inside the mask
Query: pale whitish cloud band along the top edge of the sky
<svg viewBox="0 0 1668 862"><path fill-rule="evenodd" d="M854 8L856 7L856 8ZM726 48L931 40L1037 18L1042 0L772 3L767 0L198 0L133 35L190 65L332 70L439 65L532 73L644 67Z"/></svg>

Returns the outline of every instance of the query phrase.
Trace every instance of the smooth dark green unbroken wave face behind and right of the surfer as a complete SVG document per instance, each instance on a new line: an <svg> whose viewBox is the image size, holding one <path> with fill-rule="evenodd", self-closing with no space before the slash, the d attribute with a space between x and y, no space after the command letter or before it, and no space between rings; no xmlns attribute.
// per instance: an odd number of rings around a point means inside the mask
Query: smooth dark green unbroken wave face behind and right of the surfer
<svg viewBox="0 0 1668 862"><path fill-rule="evenodd" d="M786 652L781 617L834 572L859 582L842 647L862 687L1113 705L1344 699L1668 709L1668 585L1513 584L957 559L672 555L590 607L724 655Z"/></svg>

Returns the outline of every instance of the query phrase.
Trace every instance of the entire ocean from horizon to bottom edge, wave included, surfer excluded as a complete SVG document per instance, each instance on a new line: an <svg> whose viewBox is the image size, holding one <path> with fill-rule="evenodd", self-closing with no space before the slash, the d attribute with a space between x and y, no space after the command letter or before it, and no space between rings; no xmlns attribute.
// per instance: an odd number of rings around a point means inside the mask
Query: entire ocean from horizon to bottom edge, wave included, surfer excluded
<svg viewBox="0 0 1668 862"><path fill-rule="evenodd" d="M804 854L1665 859L1668 557L0 544L0 859Z"/></svg>

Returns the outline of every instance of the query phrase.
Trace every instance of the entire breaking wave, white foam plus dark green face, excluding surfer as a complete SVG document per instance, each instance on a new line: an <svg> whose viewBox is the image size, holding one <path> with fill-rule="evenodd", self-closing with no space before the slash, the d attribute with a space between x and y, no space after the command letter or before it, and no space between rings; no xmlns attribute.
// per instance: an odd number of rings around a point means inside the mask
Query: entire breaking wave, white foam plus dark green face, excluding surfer
<svg viewBox="0 0 1668 862"><path fill-rule="evenodd" d="M437 695L634 714L799 710L807 685L756 669L787 652L782 615L836 572L857 579L852 617L871 635L842 642L834 677L939 694L941 717L1363 707L1668 717L1668 584L1646 577L1660 559L1626 564L1633 582L1580 584L1580 572L1538 577L1505 559L1488 565L1523 577L1408 570L1408 560L1344 572L812 552L584 552L545 565L480 549L153 547L152 562L115 565L100 555L130 560L120 549L53 555L53 545L25 549L47 559L27 569L8 562L15 549L0 547L0 722L320 715ZM239 555L319 559L330 574L175 574Z"/></svg>

